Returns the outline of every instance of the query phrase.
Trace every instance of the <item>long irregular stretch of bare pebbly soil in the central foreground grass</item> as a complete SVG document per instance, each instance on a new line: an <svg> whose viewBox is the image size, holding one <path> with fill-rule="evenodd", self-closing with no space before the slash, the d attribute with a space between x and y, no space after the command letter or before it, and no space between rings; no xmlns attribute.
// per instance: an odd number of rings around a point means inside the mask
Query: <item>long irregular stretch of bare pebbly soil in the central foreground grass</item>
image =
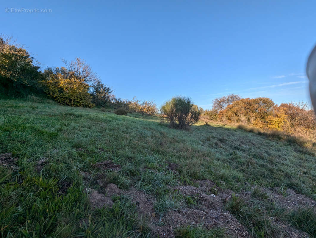
<svg viewBox="0 0 316 238"><path fill-rule="evenodd" d="M153 237L175 237L174 229L182 225L204 224L206 229L224 227L231 237L250 237L246 228L241 225L228 211L223 210L222 200L230 198L231 191L222 191L220 195L210 194L214 191L215 184L210 180L197 181L201 189L194 186L170 187L184 196L191 196L198 200L198 206L184 207L179 211L169 211L162 217L164 225L161 226L160 215L155 213L155 196L146 194L134 188L123 191L115 184L105 186L105 194L89 190L89 200L93 208L112 205L110 199L114 195L128 195L136 205L139 217L147 217L148 225ZM207 191L208 194L205 194ZM111 202L110 202L111 200Z"/></svg>

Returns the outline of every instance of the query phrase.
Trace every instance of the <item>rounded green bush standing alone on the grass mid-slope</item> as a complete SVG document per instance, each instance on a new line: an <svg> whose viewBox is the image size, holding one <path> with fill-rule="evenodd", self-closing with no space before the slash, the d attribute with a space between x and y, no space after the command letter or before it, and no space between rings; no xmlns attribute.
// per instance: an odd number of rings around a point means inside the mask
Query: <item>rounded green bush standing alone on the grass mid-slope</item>
<svg viewBox="0 0 316 238"><path fill-rule="evenodd" d="M200 116L197 105L184 96L173 97L161 106L160 111L170 123L171 128L186 129L196 123Z"/></svg>

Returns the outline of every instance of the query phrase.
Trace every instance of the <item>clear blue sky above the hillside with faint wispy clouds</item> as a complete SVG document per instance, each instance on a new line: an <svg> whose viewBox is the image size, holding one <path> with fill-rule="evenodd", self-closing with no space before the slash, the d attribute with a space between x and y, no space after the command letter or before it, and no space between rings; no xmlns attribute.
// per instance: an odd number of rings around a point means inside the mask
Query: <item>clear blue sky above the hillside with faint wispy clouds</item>
<svg viewBox="0 0 316 238"><path fill-rule="evenodd" d="M121 98L161 105L186 95L204 108L230 93L309 102L315 8L315 1L2 1L0 33L28 46L43 68L85 59Z"/></svg>

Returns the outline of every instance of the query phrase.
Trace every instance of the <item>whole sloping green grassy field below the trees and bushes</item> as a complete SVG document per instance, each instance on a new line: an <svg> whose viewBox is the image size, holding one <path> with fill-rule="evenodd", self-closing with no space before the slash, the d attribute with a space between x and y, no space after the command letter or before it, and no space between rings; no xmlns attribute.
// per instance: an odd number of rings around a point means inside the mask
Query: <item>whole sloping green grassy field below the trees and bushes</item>
<svg viewBox="0 0 316 238"><path fill-rule="evenodd" d="M0 236L234 237L206 215L168 220L208 208L200 197L212 193L229 195L214 211L229 213L245 237L316 237L315 152L234 127L179 131L158 116L0 99L0 154L12 153L0 166ZM212 186L203 192L203 183ZM120 192L110 196L108 184ZM87 188L111 206L94 209ZM179 192L186 188L198 192Z"/></svg>

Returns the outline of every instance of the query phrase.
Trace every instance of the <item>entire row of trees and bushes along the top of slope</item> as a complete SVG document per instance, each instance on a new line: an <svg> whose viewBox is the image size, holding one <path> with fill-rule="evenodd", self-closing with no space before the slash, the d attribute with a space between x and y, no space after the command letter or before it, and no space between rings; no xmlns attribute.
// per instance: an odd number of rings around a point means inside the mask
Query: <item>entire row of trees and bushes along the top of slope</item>
<svg viewBox="0 0 316 238"><path fill-rule="evenodd" d="M158 112L153 101L117 98L113 89L83 59L62 59L63 66L40 70L40 64L22 45L11 37L0 36L0 92L14 96L29 93L43 94L62 105L116 109L126 115L137 112L152 115ZM275 104L270 98L241 98L227 95L216 98L211 110L197 107L190 98L178 96L165 102L160 111L173 128L185 129L198 120L208 124L250 125L260 129L315 138L316 123L313 111L306 103Z"/></svg>

